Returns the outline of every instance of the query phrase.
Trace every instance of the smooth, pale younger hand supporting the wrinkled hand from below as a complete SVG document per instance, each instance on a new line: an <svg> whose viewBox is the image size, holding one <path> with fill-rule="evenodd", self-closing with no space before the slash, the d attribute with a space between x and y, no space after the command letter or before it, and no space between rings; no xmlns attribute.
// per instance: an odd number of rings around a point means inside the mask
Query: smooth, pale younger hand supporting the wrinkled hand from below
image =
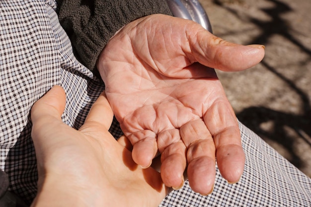
<svg viewBox="0 0 311 207"><path fill-rule="evenodd" d="M157 207L167 188L108 132L113 113L102 93L77 131L62 122L66 96L53 87L32 107L38 194L32 207Z"/></svg>

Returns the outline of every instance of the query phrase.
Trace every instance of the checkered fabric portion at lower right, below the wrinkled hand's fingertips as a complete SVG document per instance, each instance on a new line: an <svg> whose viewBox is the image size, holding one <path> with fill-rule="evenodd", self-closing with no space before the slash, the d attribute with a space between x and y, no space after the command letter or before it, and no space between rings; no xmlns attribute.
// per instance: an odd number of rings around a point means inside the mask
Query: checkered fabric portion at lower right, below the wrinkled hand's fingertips
<svg viewBox="0 0 311 207"><path fill-rule="evenodd" d="M217 169L214 192L206 197L188 182L171 192L160 207L311 207L311 179L242 124L244 173L234 185Z"/></svg>

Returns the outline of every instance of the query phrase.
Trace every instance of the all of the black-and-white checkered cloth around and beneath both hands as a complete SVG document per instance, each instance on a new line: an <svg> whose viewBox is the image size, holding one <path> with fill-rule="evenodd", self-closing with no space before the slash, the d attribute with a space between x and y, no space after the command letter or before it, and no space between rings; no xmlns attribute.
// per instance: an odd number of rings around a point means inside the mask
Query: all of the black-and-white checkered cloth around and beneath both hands
<svg viewBox="0 0 311 207"><path fill-rule="evenodd" d="M63 121L78 129L104 89L74 57L55 9L53 0L0 0L0 167L9 175L9 190L28 203L37 191L32 104L53 85L63 86ZM311 179L242 124L240 130L246 163L237 184L217 169L211 195L196 194L185 182L160 207L311 207ZM110 132L121 135L116 121Z"/></svg>

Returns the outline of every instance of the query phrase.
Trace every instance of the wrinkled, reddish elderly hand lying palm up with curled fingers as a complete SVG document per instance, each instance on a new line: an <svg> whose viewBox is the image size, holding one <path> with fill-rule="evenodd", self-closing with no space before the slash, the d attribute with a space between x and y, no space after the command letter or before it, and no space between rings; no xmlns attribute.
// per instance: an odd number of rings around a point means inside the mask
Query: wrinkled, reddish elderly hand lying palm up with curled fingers
<svg viewBox="0 0 311 207"><path fill-rule="evenodd" d="M239 71L259 63L260 45L226 42L199 24L150 15L125 27L102 51L97 69L137 164L150 166L161 153L165 185L190 186L203 195L223 177L237 182L244 153L236 117L212 68Z"/></svg>

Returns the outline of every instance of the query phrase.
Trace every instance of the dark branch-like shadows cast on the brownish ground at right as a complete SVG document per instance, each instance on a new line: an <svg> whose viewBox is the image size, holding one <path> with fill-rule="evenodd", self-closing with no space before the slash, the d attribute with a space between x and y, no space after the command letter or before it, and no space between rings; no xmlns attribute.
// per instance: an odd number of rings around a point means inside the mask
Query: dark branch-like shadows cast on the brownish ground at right
<svg viewBox="0 0 311 207"><path fill-rule="evenodd" d="M238 17L237 12L228 5L228 2L234 0L213 0L216 5L222 6L230 12L232 15ZM242 0L235 0L241 2ZM280 1L270 0L269 3L273 3L273 6L269 8L262 8L261 11L268 15L269 21L261 21L259 19L248 16L248 21L257 28L260 28L260 33L253 38L248 44L258 43L267 45L269 40L274 35L280 35L297 46L300 51L311 58L311 50L304 46L295 36L291 34L293 31L290 24L282 18L286 13L291 12L292 8ZM297 31L296 31L297 32ZM247 44L247 43L246 43ZM286 113L282 111L272 110L269 106L249 106L244 108L242 111L237 113L237 118L248 128L250 128L257 135L265 139L267 142L273 140L290 153L287 157L296 167L301 168L304 166L304 162L300 158L300 155L295 150L295 142L297 137L303 139L305 143L311 146L311 104L310 97L304 89L297 86L295 81L287 78L283 73L271 66L267 61L263 60L262 66L272 72L277 78L282 80L286 85L289 86L292 92L298 94L301 99L301 115L294 113ZM262 125L269 123L268 129L262 128ZM294 131L289 133L288 129ZM310 175L309 175L310 176Z"/></svg>

